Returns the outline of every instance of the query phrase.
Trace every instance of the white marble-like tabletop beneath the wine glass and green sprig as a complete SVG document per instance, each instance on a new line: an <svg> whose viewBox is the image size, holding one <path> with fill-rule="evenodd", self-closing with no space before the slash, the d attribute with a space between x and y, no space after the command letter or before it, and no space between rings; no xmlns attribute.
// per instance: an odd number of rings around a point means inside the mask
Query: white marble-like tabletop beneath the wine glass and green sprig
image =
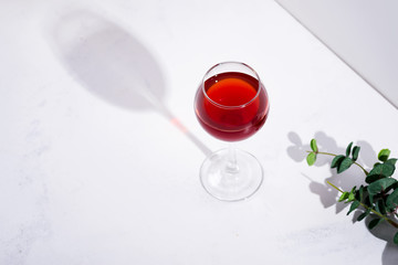
<svg viewBox="0 0 398 265"><path fill-rule="evenodd" d="M325 184L360 171L303 159L314 136L397 157L398 112L274 1L14 0L0 21L0 264L397 264L388 230L353 224ZM238 144L266 173L239 203L198 178L226 144L193 95L227 60L271 100Z"/></svg>

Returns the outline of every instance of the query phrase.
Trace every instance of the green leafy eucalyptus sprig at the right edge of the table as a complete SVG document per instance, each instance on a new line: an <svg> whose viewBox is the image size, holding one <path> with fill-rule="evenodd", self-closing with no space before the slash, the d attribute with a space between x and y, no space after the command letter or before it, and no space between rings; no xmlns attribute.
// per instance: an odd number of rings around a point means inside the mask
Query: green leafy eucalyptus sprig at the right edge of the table
<svg viewBox="0 0 398 265"><path fill-rule="evenodd" d="M353 165L358 166L364 171L367 184L362 184L359 188L353 187L350 191L344 191L327 181L329 186L342 193L338 199L339 202L350 203L347 215L362 206L363 213L357 218L357 221L364 220L369 214L375 215L375 219L368 224L369 230L381 222L388 222L398 229L398 223L391 219L391 216L398 218L398 181L392 178L397 159L389 158L390 150L383 149L377 156L379 161L367 171L356 162L360 147L353 147L353 142L347 146L345 155L320 151L315 139L311 140L310 147L311 151L307 151L306 157L308 166L315 163L318 155L326 155L334 157L331 168L336 168L337 173L346 171ZM394 243L398 245L398 232L394 236Z"/></svg>

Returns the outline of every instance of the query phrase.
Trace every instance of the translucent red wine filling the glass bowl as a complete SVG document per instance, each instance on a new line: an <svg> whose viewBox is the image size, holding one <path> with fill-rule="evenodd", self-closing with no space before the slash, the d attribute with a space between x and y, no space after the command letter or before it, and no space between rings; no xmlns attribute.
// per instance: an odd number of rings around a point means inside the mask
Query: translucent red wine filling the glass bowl
<svg viewBox="0 0 398 265"><path fill-rule="evenodd" d="M205 82L205 87L199 87L196 95L199 123L209 134L226 141L252 136L264 125L268 112L269 100L263 85L243 73L214 75Z"/></svg>

